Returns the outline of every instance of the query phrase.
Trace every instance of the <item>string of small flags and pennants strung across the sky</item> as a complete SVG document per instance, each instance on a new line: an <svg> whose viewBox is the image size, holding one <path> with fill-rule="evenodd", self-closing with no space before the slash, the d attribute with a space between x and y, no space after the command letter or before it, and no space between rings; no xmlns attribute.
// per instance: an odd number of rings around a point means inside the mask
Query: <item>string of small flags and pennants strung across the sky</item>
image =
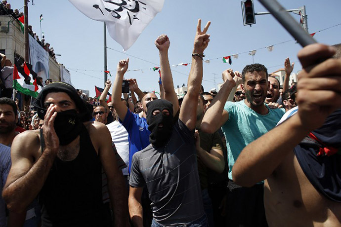
<svg viewBox="0 0 341 227"><path fill-rule="evenodd" d="M341 23L339 23L339 24L337 24L337 25L333 25L333 26L328 27L328 28L325 28L325 29L322 29L322 30L319 30L319 31L317 31L317 32L311 33L310 36L313 37L314 35L316 35L316 33L320 33L320 32L322 32L322 31L325 31L325 30L328 30L328 29L331 29L331 28L334 28L334 27L337 27L337 26L340 26L340 25L341 25ZM246 54L246 53L247 53L247 54L249 54L249 55L255 56L257 50L261 50L261 49L267 49L267 51L271 52L271 51L273 50L273 47L274 47L274 46L280 45L280 44L284 44L284 43L286 43L286 42L290 42L290 41L293 41L293 40L295 40L295 39L286 40L286 41L283 41L283 42L275 43L275 44L272 44L272 45L269 45L269 46L265 46L265 47L260 47L260 48L257 48L257 49L254 49L254 50L250 50L250 51L244 51L244 52L240 52L240 53L236 53L236 54L231 54L231 55L227 55L227 56L223 56L223 57L211 58L211 59L208 59L208 60L204 60L204 62L207 63L207 64L210 64L210 61L212 61L212 60L222 59L223 63L229 63L229 64L231 65L231 64L232 64L232 58L238 59L239 55L241 55L241 54ZM153 63L153 62L147 61L147 60L145 60L145 59L142 59L142 58L139 58L139 57L136 57L136 56L127 54L127 53L125 53L125 52L122 52L122 51L119 51L119 50L115 50L115 49L110 48L110 47L107 47L107 48L108 48L108 49L111 49L111 50L114 50L114 51L117 51L117 52L120 52L120 53L123 53L123 54L126 54L126 55L128 55L128 56L137 58L137 59L139 59L139 60L141 60L141 61L145 61L145 62L151 63L151 64L153 64L153 65L158 65L158 64L155 64L155 63ZM179 63L179 64L171 65L171 66L172 66L172 67L178 67L178 66L187 66L187 65L190 65L190 64L191 64L191 63L183 63L183 62L181 62L181 63ZM78 71L85 71L85 72L86 72L86 71L90 71L90 72L105 72L105 73L109 74L110 76L111 76L110 72L116 72L116 71L100 71L100 70L80 70L80 69L71 69L71 68L69 68L69 69L70 69L70 70L73 70L73 71L76 71L76 72L78 72ZM141 72L143 73L143 70L153 70L153 71L156 71L156 70L158 70L158 69L160 69L160 67L157 67L157 66L156 66L156 67L153 67L153 68L135 69L135 70L128 70L128 71L141 71ZM172 70L172 71L174 71L174 72L176 72L176 73L179 73L179 74L182 74L182 75L185 75L185 74L183 74L183 73L181 73L181 72L178 72L178 71L175 71L175 70ZM160 72L159 72L159 73L160 73ZM87 75L87 76L90 76L90 75ZM186 76L187 76L187 75L186 75ZM91 76L91 77L95 77L95 76ZM98 77L95 77L95 78L98 78Z"/></svg>

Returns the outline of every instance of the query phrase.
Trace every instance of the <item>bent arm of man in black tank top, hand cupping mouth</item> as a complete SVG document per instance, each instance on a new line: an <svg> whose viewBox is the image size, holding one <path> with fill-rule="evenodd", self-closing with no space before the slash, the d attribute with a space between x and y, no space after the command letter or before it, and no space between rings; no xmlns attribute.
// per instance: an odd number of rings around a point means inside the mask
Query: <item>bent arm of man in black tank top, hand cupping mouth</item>
<svg viewBox="0 0 341 227"><path fill-rule="evenodd" d="M14 213L26 211L27 206L37 197L59 149L59 139L54 131L53 123L57 116L53 104L47 109L43 137L45 149L34 163L40 149L40 139L35 132L17 135L12 143L12 167L9 171L2 197L7 208Z"/></svg>

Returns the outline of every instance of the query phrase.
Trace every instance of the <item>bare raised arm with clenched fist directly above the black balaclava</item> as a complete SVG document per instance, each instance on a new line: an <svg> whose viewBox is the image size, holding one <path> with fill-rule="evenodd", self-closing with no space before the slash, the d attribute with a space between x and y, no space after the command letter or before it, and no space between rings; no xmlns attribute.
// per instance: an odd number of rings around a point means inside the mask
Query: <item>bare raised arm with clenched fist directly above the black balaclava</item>
<svg viewBox="0 0 341 227"><path fill-rule="evenodd" d="M159 49L161 81L165 92L165 99L173 104L173 115L175 116L177 110L179 109L179 103L177 101L177 96L174 90L173 78L171 76L171 67L168 60L168 49L170 48L170 44L170 39L166 35L161 35L155 40L155 45Z"/></svg>

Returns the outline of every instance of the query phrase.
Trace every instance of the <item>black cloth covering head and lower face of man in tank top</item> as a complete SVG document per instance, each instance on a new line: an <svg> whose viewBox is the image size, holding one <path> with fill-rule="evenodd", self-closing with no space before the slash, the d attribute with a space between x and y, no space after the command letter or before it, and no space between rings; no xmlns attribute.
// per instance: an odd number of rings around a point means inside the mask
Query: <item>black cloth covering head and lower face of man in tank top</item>
<svg viewBox="0 0 341 227"><path fill-rule="evenodd" d="M77 138L82 130L82 122L91 119L91 114L86 108L85 102L77 94L76 89L65 82L52 82L48 86L43 87L43 90L38 94L34 107L37 108L38 115L44 119L46 109L44 107L45 97L50 92L65 92L75 102L76 110L68 110L59 112L54 120L54 130L59 138L60 145L70 144Z"/></svg>

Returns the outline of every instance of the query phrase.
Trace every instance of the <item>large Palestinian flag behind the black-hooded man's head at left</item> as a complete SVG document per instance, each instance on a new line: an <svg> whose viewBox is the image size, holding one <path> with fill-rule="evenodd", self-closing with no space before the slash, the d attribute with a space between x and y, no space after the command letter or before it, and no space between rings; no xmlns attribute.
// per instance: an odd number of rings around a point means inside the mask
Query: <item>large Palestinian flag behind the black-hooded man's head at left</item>
<svg viewBox="0 0 341 227"><path fill-rule="evenodd" d="M30 71L27 65L28 64L24 64L24 67L21 67L19 63L15 61L13 72L13 88L25 95L36 98L43 86L40 86L37 83L37 74L33 71ZM33 77L35 78L33 79ZM31 82L31 80L33 82Z"/></svg>

